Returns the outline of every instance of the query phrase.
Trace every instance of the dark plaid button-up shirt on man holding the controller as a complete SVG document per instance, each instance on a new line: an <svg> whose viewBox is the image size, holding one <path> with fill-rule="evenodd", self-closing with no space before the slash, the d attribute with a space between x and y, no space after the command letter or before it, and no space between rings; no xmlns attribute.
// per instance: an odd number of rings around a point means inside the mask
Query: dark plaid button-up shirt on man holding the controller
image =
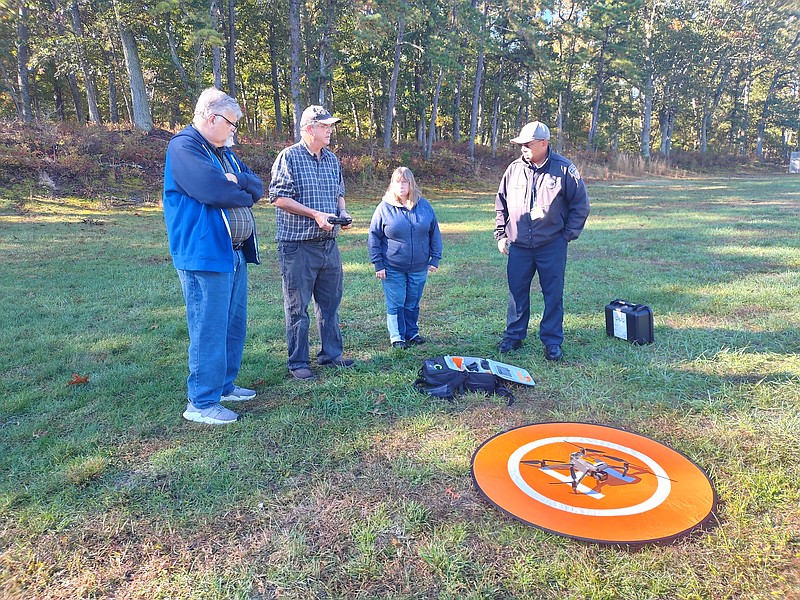
<svg viewBox="0 0 800 600"><path fill-rule="evenodd" d="M272 165L270 202L291 198L308 208L335 215L338 214L339 198L343 197L342 167L336 155L327 148L322 149L319 160L302 141L278 154ZM280 208L275 210L275 220L275 239L279 242L334 237L338 229L325 231L314 219Z"/></svg>

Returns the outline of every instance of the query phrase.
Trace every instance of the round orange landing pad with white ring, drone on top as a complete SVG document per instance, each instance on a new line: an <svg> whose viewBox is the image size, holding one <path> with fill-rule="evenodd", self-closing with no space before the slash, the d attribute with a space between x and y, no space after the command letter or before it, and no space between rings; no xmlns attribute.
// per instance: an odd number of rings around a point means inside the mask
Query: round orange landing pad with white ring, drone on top
<svg viewBox="0 0 800 600"><path fill-rule="evenodd" d="M587 423L538 423L500 433L475 451L472 478L512 517L600 543L669 540L705 522L716 505L708 476L683 454Z"/></svg>

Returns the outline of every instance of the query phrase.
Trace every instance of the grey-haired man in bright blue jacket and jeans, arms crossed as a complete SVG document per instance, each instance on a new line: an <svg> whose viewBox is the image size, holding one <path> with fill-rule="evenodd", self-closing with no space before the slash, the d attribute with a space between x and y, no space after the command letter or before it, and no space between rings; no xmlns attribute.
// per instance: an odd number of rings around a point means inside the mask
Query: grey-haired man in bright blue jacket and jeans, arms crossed
<svg viewBox="0 0 800 600"><path fill-rule="evenodd" d="M189 326L183 417L209 425L238 418L220 402L256 395L234 383L247 326L247 263L260 262L250 208L264 193L230 150L241 116L234 98L206 89L192 124L170 140L164 166L164 220Z"/></svg>

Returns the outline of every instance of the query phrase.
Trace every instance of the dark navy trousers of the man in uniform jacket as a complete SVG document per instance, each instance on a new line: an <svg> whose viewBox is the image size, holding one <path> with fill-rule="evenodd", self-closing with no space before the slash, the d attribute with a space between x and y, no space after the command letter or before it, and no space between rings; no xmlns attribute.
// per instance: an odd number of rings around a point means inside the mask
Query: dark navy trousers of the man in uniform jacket
<svg viewBox="0 0 800 600"><path fill-rule="evenodd" d="M531 316L531 282L539 273L544 312L539 339L545 346L564 341L564 271L567 268L567 240L562 236L537 248L511 244L508 247L508 312L504 337L524 340Z"/></svg>

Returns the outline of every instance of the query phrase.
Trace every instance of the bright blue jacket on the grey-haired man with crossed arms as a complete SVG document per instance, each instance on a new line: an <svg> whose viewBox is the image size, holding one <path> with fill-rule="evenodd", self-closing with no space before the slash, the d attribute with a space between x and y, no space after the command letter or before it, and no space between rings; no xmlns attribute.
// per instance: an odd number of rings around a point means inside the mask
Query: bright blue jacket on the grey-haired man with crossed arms
<svg viewBox="0 0 800 600"><path fill-rule="evenodd" d="M209 142L192 125L176 133L164 164L164 221L176 269L232 273L234 250L227 208L251 207L264 194L264 184L228 148L223 150L238 183L225 169ZM244 242L247 262L260 262L258 240Z"/></svg>

